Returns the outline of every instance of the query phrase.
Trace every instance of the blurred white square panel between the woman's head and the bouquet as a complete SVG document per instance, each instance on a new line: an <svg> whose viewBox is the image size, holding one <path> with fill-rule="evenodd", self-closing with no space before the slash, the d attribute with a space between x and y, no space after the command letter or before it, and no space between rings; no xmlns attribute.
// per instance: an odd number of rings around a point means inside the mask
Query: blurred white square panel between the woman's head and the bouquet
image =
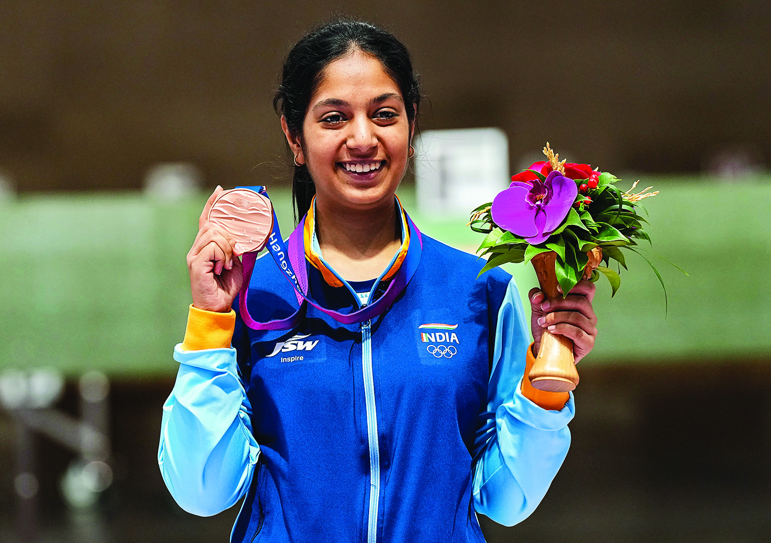
<svg viewBox="0 0 771 543"><path fill-rule="evenodd" d="M418 208L467 218L510 183L509 140L500 128L429 130L415 139Z"/></svg>

